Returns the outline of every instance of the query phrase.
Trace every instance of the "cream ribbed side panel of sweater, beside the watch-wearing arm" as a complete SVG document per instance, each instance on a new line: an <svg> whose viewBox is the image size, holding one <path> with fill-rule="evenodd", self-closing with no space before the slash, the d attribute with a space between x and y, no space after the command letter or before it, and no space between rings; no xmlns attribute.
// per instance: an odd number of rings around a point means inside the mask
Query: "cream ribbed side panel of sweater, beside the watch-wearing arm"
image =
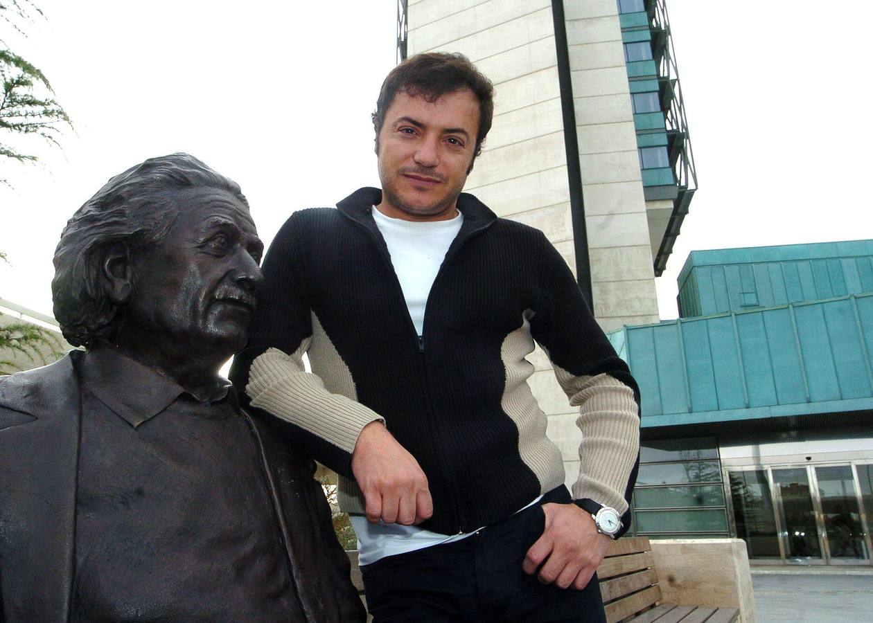
<svg viewBox="0 0 873 623"><path fill-rule="evenodd" d="M531 325L533 312L526 310L522 324L510 333L500 346L500 358L505 368L505 388L500 407L519 429L519 455L540 480L540 490L546 492L564 482L564 463L560 450L546 436L546 414L540 410L527 380L533 365L526 356L533 353Z"/></svg>

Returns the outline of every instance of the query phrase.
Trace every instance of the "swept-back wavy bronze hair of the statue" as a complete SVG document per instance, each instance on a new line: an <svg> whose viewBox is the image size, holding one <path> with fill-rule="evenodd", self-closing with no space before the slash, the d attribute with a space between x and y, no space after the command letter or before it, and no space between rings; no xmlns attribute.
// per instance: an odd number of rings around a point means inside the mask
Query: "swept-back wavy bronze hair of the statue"
<svg viewBox="0 0 873 623"><path fill-rule="evenodd" d="M235 181L189 154L170 154L115 175L76 210L60 235L52 279L54 315L66 341L90 346L111 336L119 306L107 296L107 250L118 244L130 254L148 249L175 223L179 191L195 187L227 190L248 208Z"/></svg>

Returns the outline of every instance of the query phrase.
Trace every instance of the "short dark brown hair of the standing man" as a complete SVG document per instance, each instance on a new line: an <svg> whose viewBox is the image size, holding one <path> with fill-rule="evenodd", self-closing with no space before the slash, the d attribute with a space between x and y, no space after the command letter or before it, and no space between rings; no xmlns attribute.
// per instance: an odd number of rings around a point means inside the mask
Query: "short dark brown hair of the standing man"
<svg viewBox="0 0 873 623"><path fill-rule="evenodd" d="M403 92L409 97L434 102L443 95L464 87L469 88L479 101L479 131L473 157L478 156L494 117L494 86L467 57L457 52L416 54L388 73L388 77L382 83L379 99L376 100L376 112L373 113L377 140L382 124L385 122L385 113L397 93Z"/></svg>

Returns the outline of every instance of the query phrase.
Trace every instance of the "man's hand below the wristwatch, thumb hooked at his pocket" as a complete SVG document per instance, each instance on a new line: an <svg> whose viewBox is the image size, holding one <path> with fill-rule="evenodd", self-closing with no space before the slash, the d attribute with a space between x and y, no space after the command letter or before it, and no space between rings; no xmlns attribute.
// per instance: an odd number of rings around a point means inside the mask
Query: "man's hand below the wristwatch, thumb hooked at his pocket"
<svg viewBox="0 0 873 623"><path fill-rule="evenodd" d="M527 551L522 568L540 582L583 589L612 540L597 531L595 520L575 504L543 504L546 530ZM541 566L540 566L541 565Z"/></svg>

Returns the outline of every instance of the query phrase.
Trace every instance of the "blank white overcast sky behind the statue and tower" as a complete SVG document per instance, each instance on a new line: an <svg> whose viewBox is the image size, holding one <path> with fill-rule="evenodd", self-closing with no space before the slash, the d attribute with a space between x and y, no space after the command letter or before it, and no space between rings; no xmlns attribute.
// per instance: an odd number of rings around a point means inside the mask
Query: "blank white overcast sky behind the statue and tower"
<svg viewBox="0 0 873 623"><path fill-rule="evenodd" d="M656 280L675 318L690 250L873 237L873 3L667 4L699 185ZM186 151L238 181L266 243L293 209L378 185L369 113L395 64L393 0L38 6L48 23L4 38L75 133L63 154L37 145L41 166L2 163L15 188L0 188L0 297L51 313L66 219L150 156Z"/></svg>

